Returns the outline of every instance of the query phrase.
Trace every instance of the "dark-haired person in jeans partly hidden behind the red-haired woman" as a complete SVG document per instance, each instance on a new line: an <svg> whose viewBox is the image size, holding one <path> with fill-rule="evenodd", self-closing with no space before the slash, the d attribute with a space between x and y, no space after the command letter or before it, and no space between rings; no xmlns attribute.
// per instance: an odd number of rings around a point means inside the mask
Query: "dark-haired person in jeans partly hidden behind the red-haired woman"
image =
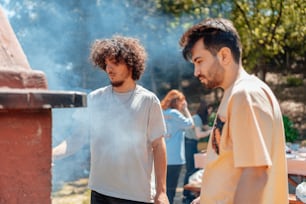
<svg viewBox="0 0 306 204"><path fill-rule="evenodd" d="M194 128L186 130L185 134L185 157L186 157L186 173L184 177L184 185L189 183L189 177L195 173L197 168L194 164L194 154L198 153L198 140L203 138L205 142L208 141L211 128L208 126L209 118L208 106L204 100L200 102L196 114L192 116L194 121ZM189 190L183 191L183 203L190 204L194 199L194 194Z"/></svg>

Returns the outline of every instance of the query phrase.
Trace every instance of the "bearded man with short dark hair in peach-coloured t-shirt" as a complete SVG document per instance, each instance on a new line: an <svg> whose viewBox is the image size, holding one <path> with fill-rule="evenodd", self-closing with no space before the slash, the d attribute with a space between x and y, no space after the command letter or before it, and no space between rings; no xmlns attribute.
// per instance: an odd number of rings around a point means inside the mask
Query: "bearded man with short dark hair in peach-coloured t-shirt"
<svg viewBox="0 0 306 204"><path fill-rule="evenodd" d="M200 197L192 203L288 203L282 113L271 89L242 65L230 20L209 18L181 37L183 57L208 89L223 89L207 149Z"/></svg>

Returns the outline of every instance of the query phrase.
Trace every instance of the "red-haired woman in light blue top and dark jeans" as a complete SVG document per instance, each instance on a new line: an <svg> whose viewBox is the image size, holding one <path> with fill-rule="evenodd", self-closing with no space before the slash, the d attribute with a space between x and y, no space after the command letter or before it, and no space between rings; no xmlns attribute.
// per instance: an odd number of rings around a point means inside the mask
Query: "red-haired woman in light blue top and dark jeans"
<svg viewBox="0 0 306 204"><path fill-rule="evenodd" d="M161 100L166 121L167 149L167 196L172 204L180 176L185 164L185 130L193 127L193 119L189 112L184 94L178 90L170 90Z"/></svg>

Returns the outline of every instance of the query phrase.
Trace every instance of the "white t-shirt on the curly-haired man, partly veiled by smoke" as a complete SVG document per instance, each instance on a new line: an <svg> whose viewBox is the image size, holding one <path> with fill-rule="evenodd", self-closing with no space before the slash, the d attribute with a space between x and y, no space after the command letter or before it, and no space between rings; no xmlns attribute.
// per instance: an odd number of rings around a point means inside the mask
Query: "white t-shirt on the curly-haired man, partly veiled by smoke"
<svg viewBox="0 0 306 204"><path fill-rule="evenodd" d="M89 188L112 197L153 202L152 142L166 132L160 101L137 85L128 93L111 86L88 96L91 169ZM84 133L86 134L86 133Z"/></svg>

